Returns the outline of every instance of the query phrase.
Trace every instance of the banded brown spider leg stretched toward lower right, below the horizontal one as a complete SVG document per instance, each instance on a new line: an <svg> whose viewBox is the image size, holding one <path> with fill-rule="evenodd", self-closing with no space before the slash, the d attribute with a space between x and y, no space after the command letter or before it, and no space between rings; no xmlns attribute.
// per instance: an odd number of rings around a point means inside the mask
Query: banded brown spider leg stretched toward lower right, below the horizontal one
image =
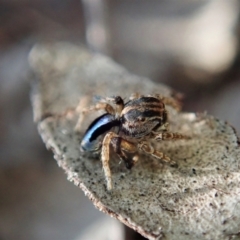
<svg viewBox="0 0 240 240"><path fill-rule="evenodd" d="M150 143L148 142L140 142L138 144L138 148L143 151L144 153L150 154L151 156L161 159L164 162L175 164L174 161L172 161L168 156L166 156L164 153L157 151Z"/></svg>

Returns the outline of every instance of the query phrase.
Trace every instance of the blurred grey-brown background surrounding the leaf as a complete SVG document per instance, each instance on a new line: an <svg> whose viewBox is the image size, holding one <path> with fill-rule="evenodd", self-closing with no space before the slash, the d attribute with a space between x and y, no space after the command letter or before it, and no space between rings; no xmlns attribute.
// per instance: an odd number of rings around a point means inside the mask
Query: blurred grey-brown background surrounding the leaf
<svg viewBox="0 0 240 240"><path fill-rule="evenodd" d="M108 219L37 133L35 43L85 44L182 92L184 111L206 111L240 132L239 11L237 0L0 0L0 240L77 239Z"/></svg>

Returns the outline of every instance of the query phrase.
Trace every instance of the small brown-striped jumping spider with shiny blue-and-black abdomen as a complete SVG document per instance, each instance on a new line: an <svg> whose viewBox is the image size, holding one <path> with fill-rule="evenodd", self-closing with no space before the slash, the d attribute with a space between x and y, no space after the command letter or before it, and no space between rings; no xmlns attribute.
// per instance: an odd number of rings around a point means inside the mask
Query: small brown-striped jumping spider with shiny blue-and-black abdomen
<svg viewBox="0 0 240 240"><path fill-rule="evenodd" d="M125 162L128 169L138 160L138 150L165 162L174 163L164 153L154 149L150 143L150 140L187 138L182 134L168 131L168 113L165 104L171 105L177 110L180 107L174 98L133 94L126 103L120 96L102 98L95 106L82 110L81 116L90 111L106 111L88 127L81 142L81 150L101 151L108 190L112 189L109 168L110 145L120 159ZM129 158L129 155L132 157Z"/></svg>

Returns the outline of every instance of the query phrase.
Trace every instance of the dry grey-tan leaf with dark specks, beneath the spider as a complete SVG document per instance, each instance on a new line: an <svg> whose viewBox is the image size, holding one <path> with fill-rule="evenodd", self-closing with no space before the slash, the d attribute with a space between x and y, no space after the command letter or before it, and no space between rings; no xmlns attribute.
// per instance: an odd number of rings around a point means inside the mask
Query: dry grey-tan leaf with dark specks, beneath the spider
<svg viewBox="0 0 240 240"><path fill-rule="evenodd" d="M231 239L240 232L239 140L224 121L169 108L170 129L191 137L156 146L178 167L141 155L131 169L111 154L113 190L101 161L79 150L74 128L81 98L131 93L172 94L135 76L111 59L67 43L37 45L29 61L35 73L34 118L46 146L68 179L101 211L149 239ZM87 126L90 120L84 124ZM84 126L84 127L86 127Z"/></svg>

